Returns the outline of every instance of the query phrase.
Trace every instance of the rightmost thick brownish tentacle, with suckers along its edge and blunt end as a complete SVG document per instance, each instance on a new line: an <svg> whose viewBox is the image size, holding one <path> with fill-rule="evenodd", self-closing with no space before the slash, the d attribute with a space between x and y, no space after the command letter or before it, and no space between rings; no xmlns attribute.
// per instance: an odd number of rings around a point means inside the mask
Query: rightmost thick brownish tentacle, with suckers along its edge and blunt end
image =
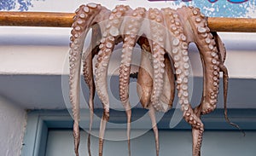
<svg viewBox="0 0 256 156"><path fill-rule="evenodd" d="M187 43L194 42L201 55L204 73L201 113L211 113L216 108L219 84L220 59L216 43L200 9L183 8L177 9L177 12L185 17L182 21L183 25L187 25L184 27L188 36Z"/></svg>

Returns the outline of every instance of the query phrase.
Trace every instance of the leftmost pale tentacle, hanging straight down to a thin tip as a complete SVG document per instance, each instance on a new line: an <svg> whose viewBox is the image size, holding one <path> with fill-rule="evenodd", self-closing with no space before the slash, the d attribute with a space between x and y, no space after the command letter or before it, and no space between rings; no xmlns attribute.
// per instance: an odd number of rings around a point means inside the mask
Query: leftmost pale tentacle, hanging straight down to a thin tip
<svg viewBox="0 0 256 156"><path fill-rule="evenodd" d="M74 136L74 150L79 156L79 88L80 88L80 66L81 54L84 47L84 38L88 32L90 22L94 19L95 14L100 12L101 5L90 3L88 5L81 5L76 10L76 15L73 17L73 30L70 43L70 75L69 75L69 95L73 109L73 136Z"/></svg>

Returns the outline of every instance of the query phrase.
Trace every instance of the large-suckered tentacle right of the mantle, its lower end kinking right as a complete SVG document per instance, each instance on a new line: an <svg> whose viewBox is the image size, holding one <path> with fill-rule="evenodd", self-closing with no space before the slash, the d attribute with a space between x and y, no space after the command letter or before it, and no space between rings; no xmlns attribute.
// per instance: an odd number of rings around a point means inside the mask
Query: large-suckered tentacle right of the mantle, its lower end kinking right
<svg viewBox="0 0 256 156"><path fill-rule="evenodd" d="M169 30L169 40L171 41L171 51L167 50L172 56L174 62L175 72L177 76L177 96L179 103L182 105L183 118L196 130L196 140L193 139L193 155L200 155L201 140L204 131L204 125L201 118L198 117L189 104L188 93L188 77L189 77L189 56L187 37L183 33L181 21L176 11L172 9L165 9L165 14L169 18L165 18L166 25ZM167 20L169 19L169 20Z"/></svg>

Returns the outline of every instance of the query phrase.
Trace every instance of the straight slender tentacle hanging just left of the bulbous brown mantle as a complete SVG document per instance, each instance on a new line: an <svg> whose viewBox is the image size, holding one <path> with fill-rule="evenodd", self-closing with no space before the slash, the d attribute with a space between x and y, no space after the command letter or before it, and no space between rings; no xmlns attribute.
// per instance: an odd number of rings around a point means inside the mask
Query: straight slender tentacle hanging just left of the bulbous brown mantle
<svg viewBox="0 0 256 156"><path fill-rule="evenodd" d="M119 67L119 96L120 100L125 107L125 112L127 116L127 140L128 140L128 151L131 155L131 145L130 145L130 133L131 133L131 104L129 101L129 82L130 82L130 72L131 72L131 55L132 50L137 43L137 33L140 30L140 23L143 21L145 14L145 9L137 8L127 15L125 23L129 23L128 26L125 25L125 35L124 44L121 55L121 64Z"/></svg>

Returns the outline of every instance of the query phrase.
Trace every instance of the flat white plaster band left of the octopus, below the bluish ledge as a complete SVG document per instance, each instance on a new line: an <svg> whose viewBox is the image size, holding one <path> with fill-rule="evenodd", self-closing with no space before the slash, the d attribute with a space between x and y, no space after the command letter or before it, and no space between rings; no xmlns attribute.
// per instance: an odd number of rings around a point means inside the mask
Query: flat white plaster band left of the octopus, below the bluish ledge
<svg viewBox="0 0 256 156"><path fill-rule="evenodd" d="M67 46L1 46L2 74L61 74Z"/></svg>

